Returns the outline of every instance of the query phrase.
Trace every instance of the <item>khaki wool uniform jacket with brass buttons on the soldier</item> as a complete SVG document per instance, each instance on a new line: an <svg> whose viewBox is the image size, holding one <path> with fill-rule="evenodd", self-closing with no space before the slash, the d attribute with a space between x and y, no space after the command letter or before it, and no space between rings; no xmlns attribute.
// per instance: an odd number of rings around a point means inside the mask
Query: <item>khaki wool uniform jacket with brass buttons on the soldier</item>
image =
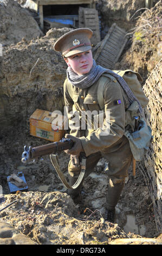
<svg viewBox="0 0 162 256"><path fill-rule="evenodd" d="M109 153L118 150L129 119L126 112L129 107L126 93L115 78L105 77L105 86L103 87L104 110L105 113L109 113L109 120L105 118L102 127L97 129L94 129L93 126L92 129L81 129L82 112L91 111L93 113L96 111L99 114L102 110L98 102L98 87L101 77L86 89L74 87L68 79L64 82L64 102L68 107L69 126L74 123L76 115L80 116L79 127L72 127L70 135L81 139L86 156L98 151ZM118 100L121 103L118 104Z"/></svg>

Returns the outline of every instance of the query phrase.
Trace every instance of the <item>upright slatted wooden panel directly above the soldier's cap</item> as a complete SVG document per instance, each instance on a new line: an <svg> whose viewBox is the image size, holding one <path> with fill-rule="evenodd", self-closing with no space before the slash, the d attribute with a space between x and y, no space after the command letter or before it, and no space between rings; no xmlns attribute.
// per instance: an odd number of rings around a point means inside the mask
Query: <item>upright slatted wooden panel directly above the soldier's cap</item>
<svg viewBox="0 0 162 256"><path fill-rule="evenodd" d="M92 8L79 8L79 28L90 28L93 31L93 36L90 39L93 45L100 42L100 25L98 11Z"/></svg>

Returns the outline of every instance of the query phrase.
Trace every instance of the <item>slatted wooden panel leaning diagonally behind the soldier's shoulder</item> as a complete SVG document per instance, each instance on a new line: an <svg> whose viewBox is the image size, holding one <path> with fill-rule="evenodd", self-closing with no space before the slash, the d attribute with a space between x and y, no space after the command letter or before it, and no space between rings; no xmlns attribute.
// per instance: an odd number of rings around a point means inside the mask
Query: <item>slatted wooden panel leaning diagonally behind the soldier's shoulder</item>
<svg viewBox="0 0 162 256"><path fill-rule="evenodd" d="M105 38L93 49L94 59L106 69L114 68L127 42L126 32L113 23Z"/></svg>

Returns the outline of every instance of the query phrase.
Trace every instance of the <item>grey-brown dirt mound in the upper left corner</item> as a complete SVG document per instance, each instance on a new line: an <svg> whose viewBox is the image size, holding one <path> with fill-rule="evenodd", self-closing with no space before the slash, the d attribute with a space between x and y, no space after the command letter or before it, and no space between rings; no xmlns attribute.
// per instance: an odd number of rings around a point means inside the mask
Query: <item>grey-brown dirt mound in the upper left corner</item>
<svg viewBox="0 0 162 256"><path fill-rule="evenodd" d="M0 3L0 43L15 44L24 37L28 40L37 38L43 33L34 17L14 0Z"/></svg>

